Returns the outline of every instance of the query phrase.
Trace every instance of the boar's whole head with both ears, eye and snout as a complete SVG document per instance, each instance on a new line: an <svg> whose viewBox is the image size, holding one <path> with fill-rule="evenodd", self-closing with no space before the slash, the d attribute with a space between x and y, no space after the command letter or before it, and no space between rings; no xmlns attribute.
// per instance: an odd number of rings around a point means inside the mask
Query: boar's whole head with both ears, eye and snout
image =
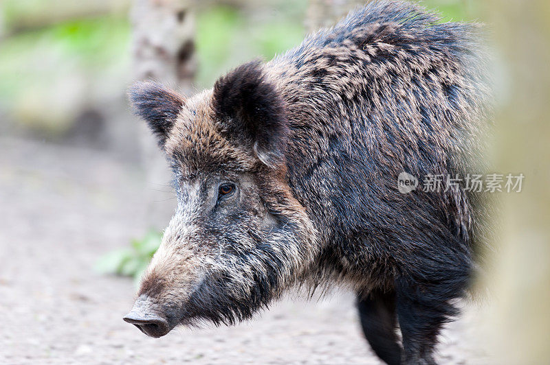
<svg viewBox="0 0 550 365"><path fill-rule="evenodd" d="M314 229L285 180L285 102L259 62L186 99L130 91L173 167L177 209L124 317L147 335L249 318L300 281Z"/></svg>

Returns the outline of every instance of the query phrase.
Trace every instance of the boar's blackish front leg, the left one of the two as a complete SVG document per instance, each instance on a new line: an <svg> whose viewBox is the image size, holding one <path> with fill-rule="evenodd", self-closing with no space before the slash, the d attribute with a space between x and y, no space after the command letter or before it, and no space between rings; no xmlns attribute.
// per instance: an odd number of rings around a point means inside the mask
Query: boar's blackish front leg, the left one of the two
<svg viewBox="0 0 550 365"><path fill-rule="evenodd" d="M371 348L389 365L401 364L401 347L397 342L395 292L372 290L358 296L359 318Z"/></svg>

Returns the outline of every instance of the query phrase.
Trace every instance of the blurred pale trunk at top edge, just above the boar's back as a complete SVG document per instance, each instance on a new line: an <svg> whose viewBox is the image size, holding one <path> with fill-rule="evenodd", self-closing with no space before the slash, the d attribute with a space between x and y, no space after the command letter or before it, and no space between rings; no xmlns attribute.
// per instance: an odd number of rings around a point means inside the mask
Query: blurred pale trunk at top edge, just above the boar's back
<svg viewBox="0 0 550 365"><path fill-rule="evenodd" d="M321 27L331 27L350 10L369 1L360 0L309 0L305 25L309 33Z"/></svg>

